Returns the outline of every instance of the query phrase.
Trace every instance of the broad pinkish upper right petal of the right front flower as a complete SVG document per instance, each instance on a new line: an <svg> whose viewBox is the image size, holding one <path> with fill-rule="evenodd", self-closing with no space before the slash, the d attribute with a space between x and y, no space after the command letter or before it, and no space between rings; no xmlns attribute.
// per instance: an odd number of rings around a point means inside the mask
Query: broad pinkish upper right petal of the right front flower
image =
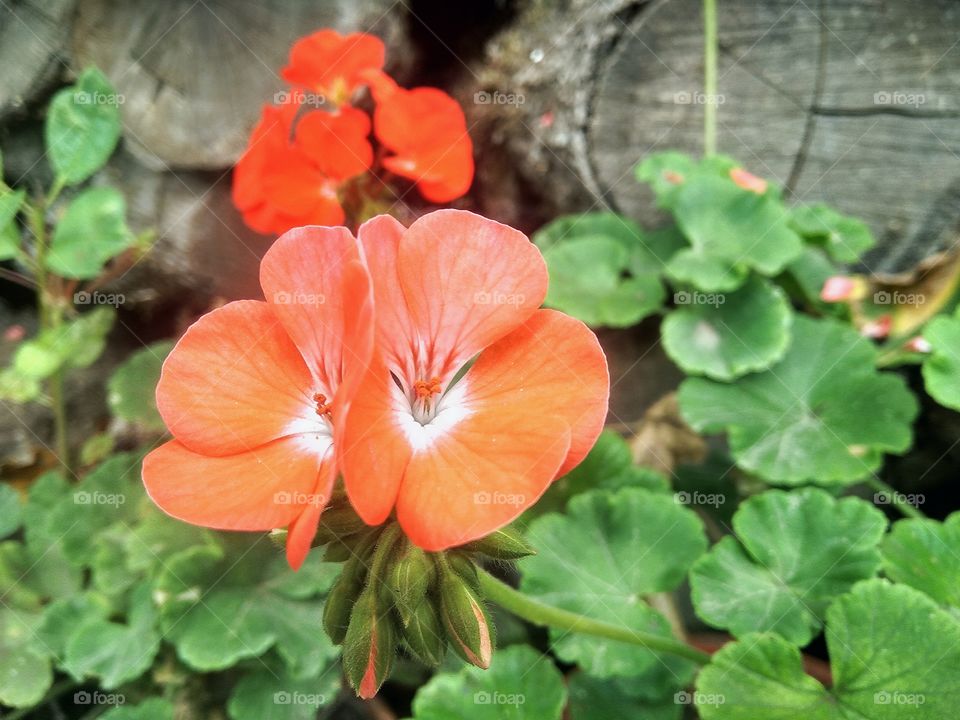
<svg viewBox="0 0 960 720"><path fill-rule="evenodd" d="M437 210L414 222L397 267L413 324L441 376L519 327L547 292L536 246L465 210Z"/></svg>

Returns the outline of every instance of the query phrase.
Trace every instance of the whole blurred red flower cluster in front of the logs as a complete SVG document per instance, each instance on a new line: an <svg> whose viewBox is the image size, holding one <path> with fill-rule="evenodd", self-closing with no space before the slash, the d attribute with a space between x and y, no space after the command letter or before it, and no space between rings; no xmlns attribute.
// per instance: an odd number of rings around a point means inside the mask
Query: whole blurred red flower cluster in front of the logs
<svg viewBox="0 0 960 720"><path fill-rule="evenodd" d="M262 233L303 225L342 225L346 184L375 170L371 129L382 167L443 203L473 181L473 144L463 110L436 88L400 88L383 72L385 49L373 35L320 30L298 40L282 75L293 86L266 105L233 178L244 222ZM373 122L353 107L361 88Z"/></svg>

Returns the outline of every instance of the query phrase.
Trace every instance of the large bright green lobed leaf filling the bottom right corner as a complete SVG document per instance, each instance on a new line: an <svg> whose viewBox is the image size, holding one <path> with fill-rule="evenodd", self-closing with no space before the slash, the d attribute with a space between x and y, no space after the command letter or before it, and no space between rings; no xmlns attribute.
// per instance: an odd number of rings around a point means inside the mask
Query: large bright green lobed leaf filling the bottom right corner
<svg viewBox="0 0 960 720"><path fill-rule="evenodd" d="M960 623L905 585L867 580L827 611L833 687L803 671L774 634L714 653L697 679L704 720L906 720L953 717L960 702Z"/></svg>

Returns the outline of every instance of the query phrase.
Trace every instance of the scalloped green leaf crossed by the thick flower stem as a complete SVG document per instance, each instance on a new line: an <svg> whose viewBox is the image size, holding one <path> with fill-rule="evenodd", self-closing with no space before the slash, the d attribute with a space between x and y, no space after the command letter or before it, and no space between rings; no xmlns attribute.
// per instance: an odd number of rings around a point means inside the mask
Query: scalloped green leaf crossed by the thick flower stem
<svg viewBox="0 0 960 720"><path fill-rule="evenodd" d="M647 632L670 634L643 601L675 588L706 549L700 519L667 495L637 488L578 495L565 515L534 520L537 555L521 563L521 588L548 605ZM554 650L597 677L637 675L658 662L641 647L551 632Z"/></svg>

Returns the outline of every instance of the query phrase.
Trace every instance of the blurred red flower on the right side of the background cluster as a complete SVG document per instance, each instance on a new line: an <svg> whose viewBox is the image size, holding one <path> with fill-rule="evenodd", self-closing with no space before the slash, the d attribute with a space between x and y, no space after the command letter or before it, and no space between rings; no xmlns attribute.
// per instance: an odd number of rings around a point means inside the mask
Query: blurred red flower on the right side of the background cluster
<svg viewBox="0 0 960 720"><path fill-rule="evenodd" d="M404 90L383 73L366 73L377 102L373 131L392 152L391 172L413 180L430 202L462 197L473 182L473 142L459 103L430 87Z"/></svg>

